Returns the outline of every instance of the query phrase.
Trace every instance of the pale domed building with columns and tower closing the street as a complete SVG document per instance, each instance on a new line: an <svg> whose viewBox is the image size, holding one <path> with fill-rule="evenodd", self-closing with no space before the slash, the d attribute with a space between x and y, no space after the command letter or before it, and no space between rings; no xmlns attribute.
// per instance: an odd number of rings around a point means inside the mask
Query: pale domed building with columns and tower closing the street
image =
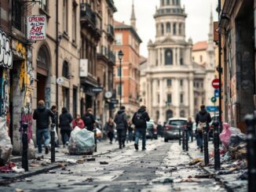
<svg viewBox="0 0 256 192"><path fill-rule="evenodd" d="M154 15L155 42L148 42L148 61L141 64L141 104L161 123L170 117L193 118L206 103L207 81L214 78L214 65L209 64L214 55L205 66L192 61L192 39L185 41L186 16L180 0L160 1ZM211 16L210 33L212 22ZM209 34L214 46L212 38Z"/></svg>

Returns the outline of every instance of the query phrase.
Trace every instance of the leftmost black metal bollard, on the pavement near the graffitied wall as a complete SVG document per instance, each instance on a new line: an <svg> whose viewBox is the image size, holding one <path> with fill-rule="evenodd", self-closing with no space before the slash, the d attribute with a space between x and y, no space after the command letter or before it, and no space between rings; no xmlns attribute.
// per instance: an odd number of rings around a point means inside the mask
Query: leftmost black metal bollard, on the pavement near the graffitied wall
<svg viewBox="0 0 256 192"><path fill-rule="evenodd" d="M27 143L27 122L22 124L22 158L21 158L21 167L24 168L26 172L28 172L28 143Z"/></svg>

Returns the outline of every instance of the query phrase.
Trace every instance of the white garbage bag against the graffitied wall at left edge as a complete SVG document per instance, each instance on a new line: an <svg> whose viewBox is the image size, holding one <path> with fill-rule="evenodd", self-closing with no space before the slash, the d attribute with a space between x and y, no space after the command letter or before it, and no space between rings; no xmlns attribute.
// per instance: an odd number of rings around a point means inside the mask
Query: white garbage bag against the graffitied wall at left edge
<svg viewBox="0 0 256 192"><path fill-rule="evenodd" d="M0 165L5 165L8 162L13 151L7 130L5 118L0 118Z"/></svg>

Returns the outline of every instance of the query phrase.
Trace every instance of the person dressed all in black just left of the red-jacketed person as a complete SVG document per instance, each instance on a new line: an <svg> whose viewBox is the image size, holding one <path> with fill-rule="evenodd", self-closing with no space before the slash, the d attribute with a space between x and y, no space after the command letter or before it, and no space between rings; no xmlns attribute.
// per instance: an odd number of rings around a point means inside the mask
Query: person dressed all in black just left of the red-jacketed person
<svg viewBox="0 0 256 192"><path fill-rule="evenodd" d="M71 134L71 121L73 120L72 115L68 112L67 107L62 107L60 114L60 134L63 143L63 147L70 138Z"/></svg>

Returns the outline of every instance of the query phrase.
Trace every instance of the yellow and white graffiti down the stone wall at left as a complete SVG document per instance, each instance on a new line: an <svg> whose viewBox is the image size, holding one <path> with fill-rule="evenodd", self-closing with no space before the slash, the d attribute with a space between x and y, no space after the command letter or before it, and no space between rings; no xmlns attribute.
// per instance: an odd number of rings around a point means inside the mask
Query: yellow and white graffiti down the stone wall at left
<svg viewBox="0 0 256 192"><path fill-rule="evenodd" d="M31 62L31 49L26 49L20 42L16 42L15 45L16 54L24 59L20 64L20 91L22 96L20 122L21 125L25 121L27 122L27 139L30 140L32 138L32 92L34 89L34 71Z"/></svg>

